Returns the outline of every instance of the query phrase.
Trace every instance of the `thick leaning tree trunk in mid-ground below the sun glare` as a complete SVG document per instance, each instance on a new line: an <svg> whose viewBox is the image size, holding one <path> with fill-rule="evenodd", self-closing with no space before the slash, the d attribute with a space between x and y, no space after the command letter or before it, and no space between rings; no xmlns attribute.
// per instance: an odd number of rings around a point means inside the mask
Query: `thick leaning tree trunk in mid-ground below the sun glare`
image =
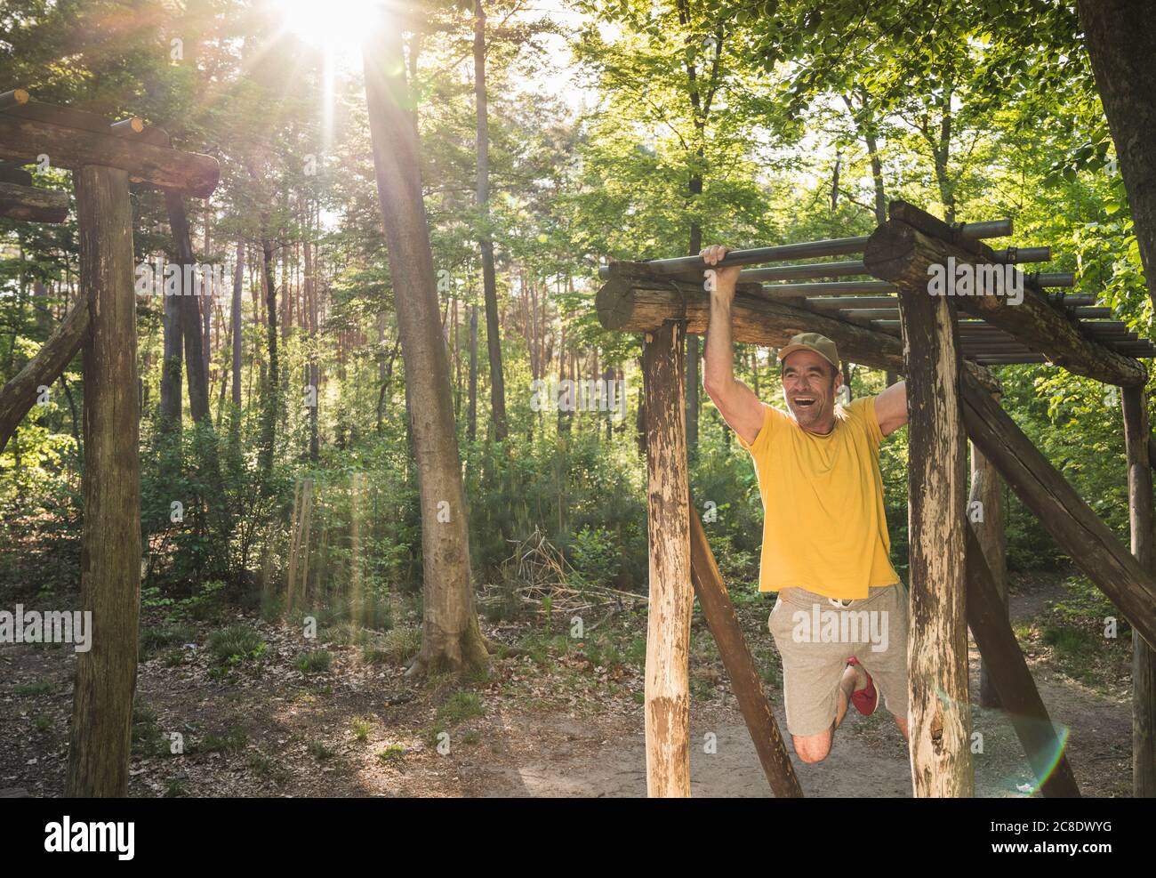
<svg viewBox="0 0 1156 878"><path fill-rule="evenodd" d="M484 667L489 656L470 581L450 364L440 338L417 132L405 109L409 89L397 28L379 21L363 60L421 497L424 629L421 652L407 673Z"/></svg>

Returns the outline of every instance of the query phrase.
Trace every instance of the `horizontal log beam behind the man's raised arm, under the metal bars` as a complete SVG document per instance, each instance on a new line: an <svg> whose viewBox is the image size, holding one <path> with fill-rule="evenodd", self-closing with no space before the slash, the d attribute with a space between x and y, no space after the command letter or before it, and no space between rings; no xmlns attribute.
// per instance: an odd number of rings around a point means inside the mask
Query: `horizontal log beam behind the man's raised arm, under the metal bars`
<svg viewBox="0 0 1156 878"><path fill-rule="evenodd" d="M666 320L684 320L688 334L702 335L710 317L710 294L701 283L612 280L598 292L594 308L607 330L652 332ZM903 371L903 342L896 335L742 292L735 295L731 311L735 341L783 347L800 332L818 332L838 345L839 355L849 362L881 371ZM981 385L999 391L999 382L986 369L973 363L966 368Z"/></svg>

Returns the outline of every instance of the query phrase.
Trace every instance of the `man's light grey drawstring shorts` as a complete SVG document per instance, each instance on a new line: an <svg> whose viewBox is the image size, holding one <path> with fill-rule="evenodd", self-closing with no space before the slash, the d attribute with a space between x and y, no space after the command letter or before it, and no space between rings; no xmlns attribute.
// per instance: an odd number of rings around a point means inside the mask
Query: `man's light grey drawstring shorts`
<svg viewBox="0 0 1156 878"><path fill-rule="evenodd" d="M906 718L907 590L902 584L835 603L806 589L783 589L766 627L783 657L783 701L792 735L831 728L851 656L872 676L887 709Z"/></svg>

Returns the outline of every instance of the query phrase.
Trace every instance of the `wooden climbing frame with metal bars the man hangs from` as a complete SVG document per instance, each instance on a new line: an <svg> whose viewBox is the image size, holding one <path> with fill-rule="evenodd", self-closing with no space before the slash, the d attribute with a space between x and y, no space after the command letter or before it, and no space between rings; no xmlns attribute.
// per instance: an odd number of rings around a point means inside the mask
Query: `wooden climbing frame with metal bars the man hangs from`
<svg viewBox="0 0 1156 878"><path fill-rule="evenodd" d="M1156 777L1149 645L1156 643L1150 473L1156 444L1142 416L1148 370L1140 357L1156 355L1156 348L1125 324L1104 319L1111 311L1095 308L1094 296L1068 295L1073 275L1017 267L1047 261L1048 248L992 250L984 243L1009 234L1009 220L948 224L894 201L888 221L868 237L732 251L720 265L861 254L744 268L732 305L732 335L740 342L781 347L800 332L820 332L838 344L845 360L906 376L914 795L975 792L969 626L985 659L985 679L1010 716L1040 791L1080 795L1065 739L1047 715L1008 621L1002 554L985 551L990 529L966 515L969 437L983 466L1008 482L1135 632L1133 748L1141 795ZM949 259L971 268L1010 266L1006 271L1016 272L1022 301L928 295L929 268ZM690 791L687 662L694 588L772 790L800 796L783 736L689 501L682 338L706 332L710 294L703 288L703 268L699 257L612 263L600 272L606 283L595 302L605 329L644 334L651 552L647 790L652 796ZM1000 407L1000 384L986 367L1030 362L1051 362L1122 389L1135 555Z"/></svg>

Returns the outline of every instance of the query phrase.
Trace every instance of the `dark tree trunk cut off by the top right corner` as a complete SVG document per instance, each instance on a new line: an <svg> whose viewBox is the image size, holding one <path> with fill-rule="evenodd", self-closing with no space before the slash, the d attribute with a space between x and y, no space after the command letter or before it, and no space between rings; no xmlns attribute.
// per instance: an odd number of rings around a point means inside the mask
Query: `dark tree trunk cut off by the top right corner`
<svg viewBox="0 0 1156 878"><path fill-rule="evenodd" d="M1076 5L1132 207L1148 296L1156 304L1156 15L1147 0Z"/></svg>

